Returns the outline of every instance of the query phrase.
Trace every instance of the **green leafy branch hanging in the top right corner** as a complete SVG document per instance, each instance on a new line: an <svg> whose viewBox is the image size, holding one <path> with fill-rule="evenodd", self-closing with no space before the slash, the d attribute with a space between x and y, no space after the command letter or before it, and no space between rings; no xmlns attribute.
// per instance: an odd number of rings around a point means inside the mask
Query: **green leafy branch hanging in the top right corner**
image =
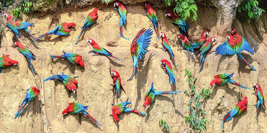
<svg viewBox="0 0 267 133"><path fill-rule="evenodd" d="M249 23L250 19L259 18L262 12L265 12L265 10L259 8L258 5L259 2L256 0L243 0L238 6L238 12L241 12L241 7L244 11L247 11L247 20Z"/></svg>

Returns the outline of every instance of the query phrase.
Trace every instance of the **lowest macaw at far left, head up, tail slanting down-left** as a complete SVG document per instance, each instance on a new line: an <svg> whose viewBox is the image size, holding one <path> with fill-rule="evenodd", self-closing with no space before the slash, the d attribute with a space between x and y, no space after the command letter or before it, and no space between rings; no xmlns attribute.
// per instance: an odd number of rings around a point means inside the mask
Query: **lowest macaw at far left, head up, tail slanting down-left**
<svg viewBox="0 0 267 133"><path fill-rule="evenodd" d="M20 108L18 109L14 119L16 119L17 116L18 117L20 116L21 111L26 106L28 101L33 100L39 93L40 93L40 90L37 89L36 87L30 87L28 89L26 97L24 98L23 102L21 103Z"/></svg>

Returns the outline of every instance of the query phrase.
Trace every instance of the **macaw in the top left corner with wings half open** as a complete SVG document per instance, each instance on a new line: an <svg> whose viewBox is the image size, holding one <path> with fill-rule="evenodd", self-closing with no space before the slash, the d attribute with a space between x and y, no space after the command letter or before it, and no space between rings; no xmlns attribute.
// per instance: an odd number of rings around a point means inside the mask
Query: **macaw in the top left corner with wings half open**
<svg viewBox="0 0 267 133"><path fill-rule="evenodd" d="M8 14L8 13L5 13L4 16L7 18L7 23L6 23L7 27L9 27L16 34L17 39L21 37L19 30L24 29L31 36L31 38L34 40L34 42L37 45L40 45L36 41L36 39L31 35L30 31L27 28L29 26L34 25L34 23L30 24L29 22L14 21L14 20L12 20L10 14ZM19 39L18 39L18 41L19 41Z"/></svg>

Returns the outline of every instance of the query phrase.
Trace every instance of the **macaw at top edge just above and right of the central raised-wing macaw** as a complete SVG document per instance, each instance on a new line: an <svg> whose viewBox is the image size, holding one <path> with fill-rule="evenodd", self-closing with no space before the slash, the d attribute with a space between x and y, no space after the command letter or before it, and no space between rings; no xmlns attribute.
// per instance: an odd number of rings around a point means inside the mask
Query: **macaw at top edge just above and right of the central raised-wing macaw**
<svg viewBox="0 0 267 133"><path fill-rule="evenodd" d="M152 21L153 23L153 27L155 29L155 32L157 34L158 40L159 40L159 36L158 36L158 18L156 16L156 12L153 9L153 7L151 7L151 5L149 3L145 4L145 10L147 11L147 17Z"/></svg>

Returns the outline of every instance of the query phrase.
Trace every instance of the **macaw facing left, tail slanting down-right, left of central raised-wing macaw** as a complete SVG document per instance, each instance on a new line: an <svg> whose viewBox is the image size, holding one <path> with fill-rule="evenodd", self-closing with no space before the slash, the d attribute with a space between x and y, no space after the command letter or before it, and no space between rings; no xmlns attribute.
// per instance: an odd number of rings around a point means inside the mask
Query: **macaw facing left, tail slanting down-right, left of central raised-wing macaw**
<svg viewBox="0 0 267 133"><path fill-rule="evenodd" d="M98 45L93 39L88 38L87 42L90 43L93 46L93 50L96 52L96 54L94 54L92 56L98 56L98 54L101 53L101 54L104 54L106 56L109 56L109 57L115 58L117 60L123 61L122 59L113 56L112 53L110 53L105 48L103 48L100 45ZM123 61L123 62L125 62L125 61Z"/></svg>

